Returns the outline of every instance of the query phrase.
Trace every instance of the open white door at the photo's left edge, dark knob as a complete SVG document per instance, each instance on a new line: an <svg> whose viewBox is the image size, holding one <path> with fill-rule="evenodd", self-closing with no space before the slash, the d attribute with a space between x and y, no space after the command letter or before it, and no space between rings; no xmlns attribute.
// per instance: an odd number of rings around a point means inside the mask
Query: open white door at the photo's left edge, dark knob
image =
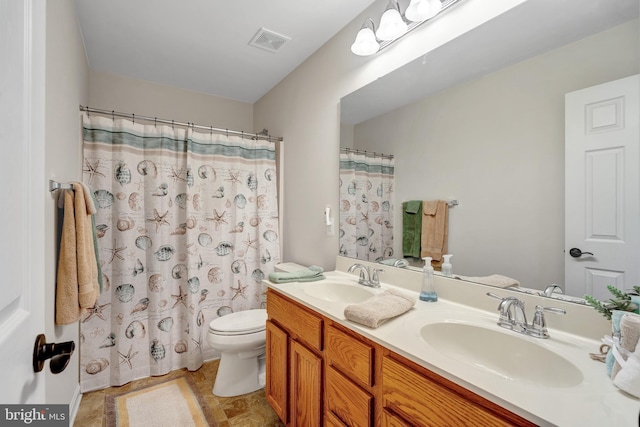
<svg viewBox="0 0 640 427"><path fill-rule="evenodd" d="M44 1L0 0L3 404L45 403L45 376L32 367L36 335L44 332L44 24Z"/></svg>

